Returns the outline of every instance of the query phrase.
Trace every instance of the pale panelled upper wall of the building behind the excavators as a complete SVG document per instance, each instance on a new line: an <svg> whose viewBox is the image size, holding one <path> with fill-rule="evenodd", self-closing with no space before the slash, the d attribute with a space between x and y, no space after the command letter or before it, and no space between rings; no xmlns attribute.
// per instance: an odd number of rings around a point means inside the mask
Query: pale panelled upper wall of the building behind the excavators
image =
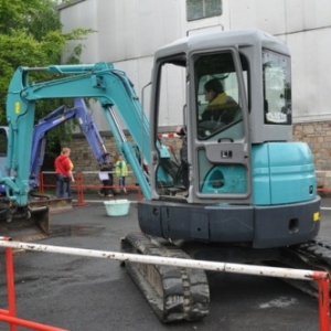
<svg viewBox="0 0 331 331"><path fill-rule="evenodd" d="M150 81L154 51L188 31L265 30L285 39L291 49L295 121L331 120L330 0L223 0L221 17L193 22L186 21L184 0L85 0L62 8L61 20L64 31L97 30L84 41L82 62L113 62L127 73L139 96ZM183 98L181 89L178 93L177 98ZM145 102L147 106L149 98ZM168 111L162 125L175 125L171 103ZM107 129L102 118L95 120L102 130Z"/></svg>

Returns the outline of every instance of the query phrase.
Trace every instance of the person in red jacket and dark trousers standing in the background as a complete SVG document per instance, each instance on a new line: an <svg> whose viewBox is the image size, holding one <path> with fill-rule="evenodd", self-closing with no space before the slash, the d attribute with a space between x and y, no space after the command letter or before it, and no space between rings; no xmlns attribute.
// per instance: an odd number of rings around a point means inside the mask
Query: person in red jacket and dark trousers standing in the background
<svg viewBox="0 0 331 331"><path fill-rule="evenodd" d="M64 147L61 154L54 161L54 168L57 175L56 180L56 197L71 197L71 182L75 182L73 175L74 164L70 159L71 149Z"/></svg>

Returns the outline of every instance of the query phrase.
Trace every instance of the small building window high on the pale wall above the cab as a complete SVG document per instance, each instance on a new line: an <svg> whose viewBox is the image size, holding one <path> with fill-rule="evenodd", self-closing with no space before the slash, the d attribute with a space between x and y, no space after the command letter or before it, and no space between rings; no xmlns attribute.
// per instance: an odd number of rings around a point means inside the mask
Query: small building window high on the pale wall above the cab
<svg viewBox="0 0 331 331"><path fill-rule="evenodd" d="M186 0L188 21L222 14L222 0Z"/></svg>

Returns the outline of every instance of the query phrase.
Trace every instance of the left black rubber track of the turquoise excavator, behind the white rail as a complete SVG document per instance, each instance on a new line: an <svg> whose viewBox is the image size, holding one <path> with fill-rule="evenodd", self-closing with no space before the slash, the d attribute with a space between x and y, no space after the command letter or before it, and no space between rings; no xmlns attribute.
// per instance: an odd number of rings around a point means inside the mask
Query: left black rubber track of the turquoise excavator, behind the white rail
<svg viewBox="0 0 331 331"><path fill-rule="evenodd" d="M190 258L183 250L162 238L140 233L128 234L121 250L162 257ZM162 322L201 320L209 313L210 289L204 270L149 265L148 274L162 287L156 289L137 268L136 263L125 263L128 273ZM139 264L140 268L147 265Z"/></svg>

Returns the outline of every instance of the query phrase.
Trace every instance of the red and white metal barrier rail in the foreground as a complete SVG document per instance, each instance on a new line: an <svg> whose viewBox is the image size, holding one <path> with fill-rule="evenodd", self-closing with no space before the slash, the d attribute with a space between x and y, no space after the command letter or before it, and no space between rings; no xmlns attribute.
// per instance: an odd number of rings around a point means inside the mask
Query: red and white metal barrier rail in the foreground
<svg viewBox="0 0 331 331"><path fill-rule="evenodd" d="M207 260L196 260L196 259L183 259L183 258L173 258L173 257L127 254L127 253L117 253L117 252L107 252L107 250L93 250L93 249L84 249L84 248L52 246L52 245L38 245L38 244L31 245L29 243L9 242L3 239L3 237L0 237L0 247L20 248L20 249L36 250L43 253L77 255L77 256L86 256L86 257L98 257L108 260L117 259L122 261L215 270L215 271L232 273L232 274L255 275L255 276L265 276L265 277L280 277L280 278L290 278L290 279L301 279L308 281L314 280L318 282L318 287L319 287L320 331L330 331L330 321L329 321L330 285L329 285L329 274L327 271L254 266L254 265L207 261ZM7 263L9 268L12 270L13 260L11 254L7 256ZM10 271L10 277L11 277L10 278L11 282L13 285L13 271ZM9 290L13 291L13 289L11 289L10 287ZM12 312L12 310L14 310L14 301L11 301L10 306L11 306L10 311ZM6 314L1 314L0 311L0 320L1 319L3 321L7 320ZM63 331L62 329L38 329L38 330ZM15 330L11 330L11 331L15 331Z"/></svg>

